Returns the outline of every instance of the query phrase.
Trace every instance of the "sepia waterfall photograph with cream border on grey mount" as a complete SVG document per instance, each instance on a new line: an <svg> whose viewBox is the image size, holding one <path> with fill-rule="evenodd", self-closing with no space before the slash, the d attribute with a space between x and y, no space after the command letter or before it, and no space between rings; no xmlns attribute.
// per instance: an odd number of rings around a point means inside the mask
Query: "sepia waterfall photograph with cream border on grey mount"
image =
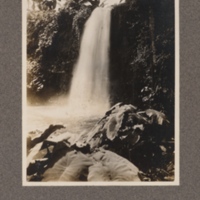
<svg viewBox="0 0 200 200"><path fill-rule="evenodd" d="M22 13L23 185L179 185L178 0Z"/></svg>

